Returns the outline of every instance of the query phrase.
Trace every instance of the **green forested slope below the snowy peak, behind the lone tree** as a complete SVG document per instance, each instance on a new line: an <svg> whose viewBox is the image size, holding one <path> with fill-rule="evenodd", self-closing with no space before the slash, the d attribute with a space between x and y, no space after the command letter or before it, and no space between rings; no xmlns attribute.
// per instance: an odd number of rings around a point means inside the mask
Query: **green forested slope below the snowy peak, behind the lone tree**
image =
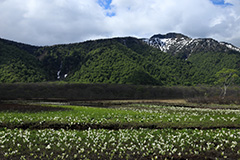
<svg viewBox="0 0 240 160"><path fill-rule="evenodd" d="M193 64L190 70L193 84L214 84L216 73L223 68L240 69L240 54L197 53L190 56L188 61ZM240 81L236 80L236 83Z"/></svg>

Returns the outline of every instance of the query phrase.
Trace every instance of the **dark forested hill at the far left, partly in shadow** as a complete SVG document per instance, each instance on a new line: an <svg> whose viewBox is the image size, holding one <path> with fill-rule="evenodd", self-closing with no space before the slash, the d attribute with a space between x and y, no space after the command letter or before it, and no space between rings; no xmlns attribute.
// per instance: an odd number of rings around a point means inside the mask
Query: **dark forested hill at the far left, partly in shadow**
<svg viewBox="0 0 240 160"><path fill-rule="evenodd" d="M0 82L39 82L47 79L34 52L38 47L0 39Z"/></svg>

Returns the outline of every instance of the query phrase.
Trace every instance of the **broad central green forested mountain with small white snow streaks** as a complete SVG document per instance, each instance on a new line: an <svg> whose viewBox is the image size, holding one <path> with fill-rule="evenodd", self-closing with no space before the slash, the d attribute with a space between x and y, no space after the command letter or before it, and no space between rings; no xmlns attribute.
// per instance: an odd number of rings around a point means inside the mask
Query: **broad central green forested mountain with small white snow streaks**
<svg viewBox="0 0 240 160"><path fill-rule="evenodd" d="M184 85L181 72L190 67L133 37L43 47L37 53L52 81Z"/></svg>

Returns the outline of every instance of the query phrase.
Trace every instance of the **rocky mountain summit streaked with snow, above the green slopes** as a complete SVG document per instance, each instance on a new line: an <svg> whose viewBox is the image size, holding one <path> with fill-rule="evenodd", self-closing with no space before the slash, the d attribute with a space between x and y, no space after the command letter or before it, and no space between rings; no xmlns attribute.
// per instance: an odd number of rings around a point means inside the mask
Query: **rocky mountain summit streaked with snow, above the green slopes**
<svg viewBox="0 0 240 160"><path fill-rule="evenodd" d="M240 48L230 43L218 42L211 38L193 39L179 33L157 34L143 41L163 52L183 59L200 52L240 53Z"/></svg>

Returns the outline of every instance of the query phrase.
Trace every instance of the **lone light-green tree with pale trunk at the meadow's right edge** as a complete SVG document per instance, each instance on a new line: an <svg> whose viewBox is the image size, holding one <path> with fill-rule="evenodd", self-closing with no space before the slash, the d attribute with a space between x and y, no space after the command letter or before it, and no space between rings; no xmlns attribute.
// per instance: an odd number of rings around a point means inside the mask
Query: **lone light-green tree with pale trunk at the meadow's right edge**
<svg viewBox="0 0 240 160"><path fill-rule="evenodd" d="M239 76L237 75L238 71L236 69L227 69L223 68L219 72L216 73L217 81L216 84L220 84L222 86L222 91L220 96L222 99L225 98L227 94L227 88L237 79Z"/></svg>

